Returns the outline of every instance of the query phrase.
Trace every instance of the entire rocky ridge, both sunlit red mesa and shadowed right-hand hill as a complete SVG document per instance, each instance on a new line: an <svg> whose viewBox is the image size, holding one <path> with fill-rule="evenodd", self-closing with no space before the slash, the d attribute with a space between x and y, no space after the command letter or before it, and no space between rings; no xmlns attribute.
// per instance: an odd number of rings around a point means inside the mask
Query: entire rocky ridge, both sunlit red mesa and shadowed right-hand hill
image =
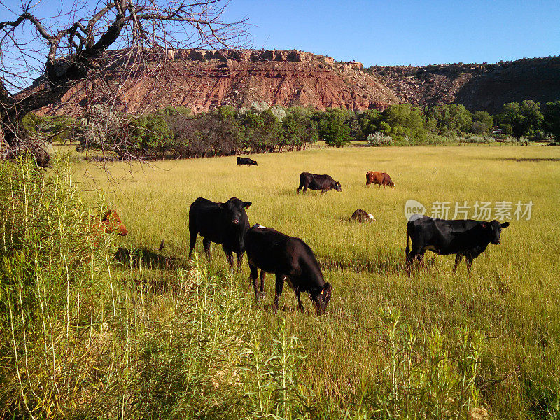
<svg viewBox="0 0 560 420"><path fill-rule="evenodd" d="M116 96L104 97L102 83L78 85L41 113L79 113L87 105L86 90L95 92L97 101L114 100L131 113L169 105L198 112L255 102L354 110L454 102L495 112L506 102L560 99L560 57L364 69L359 62L296 50L169 50L165 59L131 66L134 75L125 80L117 71L106 72L107 85L118 86Z"/></svg>

